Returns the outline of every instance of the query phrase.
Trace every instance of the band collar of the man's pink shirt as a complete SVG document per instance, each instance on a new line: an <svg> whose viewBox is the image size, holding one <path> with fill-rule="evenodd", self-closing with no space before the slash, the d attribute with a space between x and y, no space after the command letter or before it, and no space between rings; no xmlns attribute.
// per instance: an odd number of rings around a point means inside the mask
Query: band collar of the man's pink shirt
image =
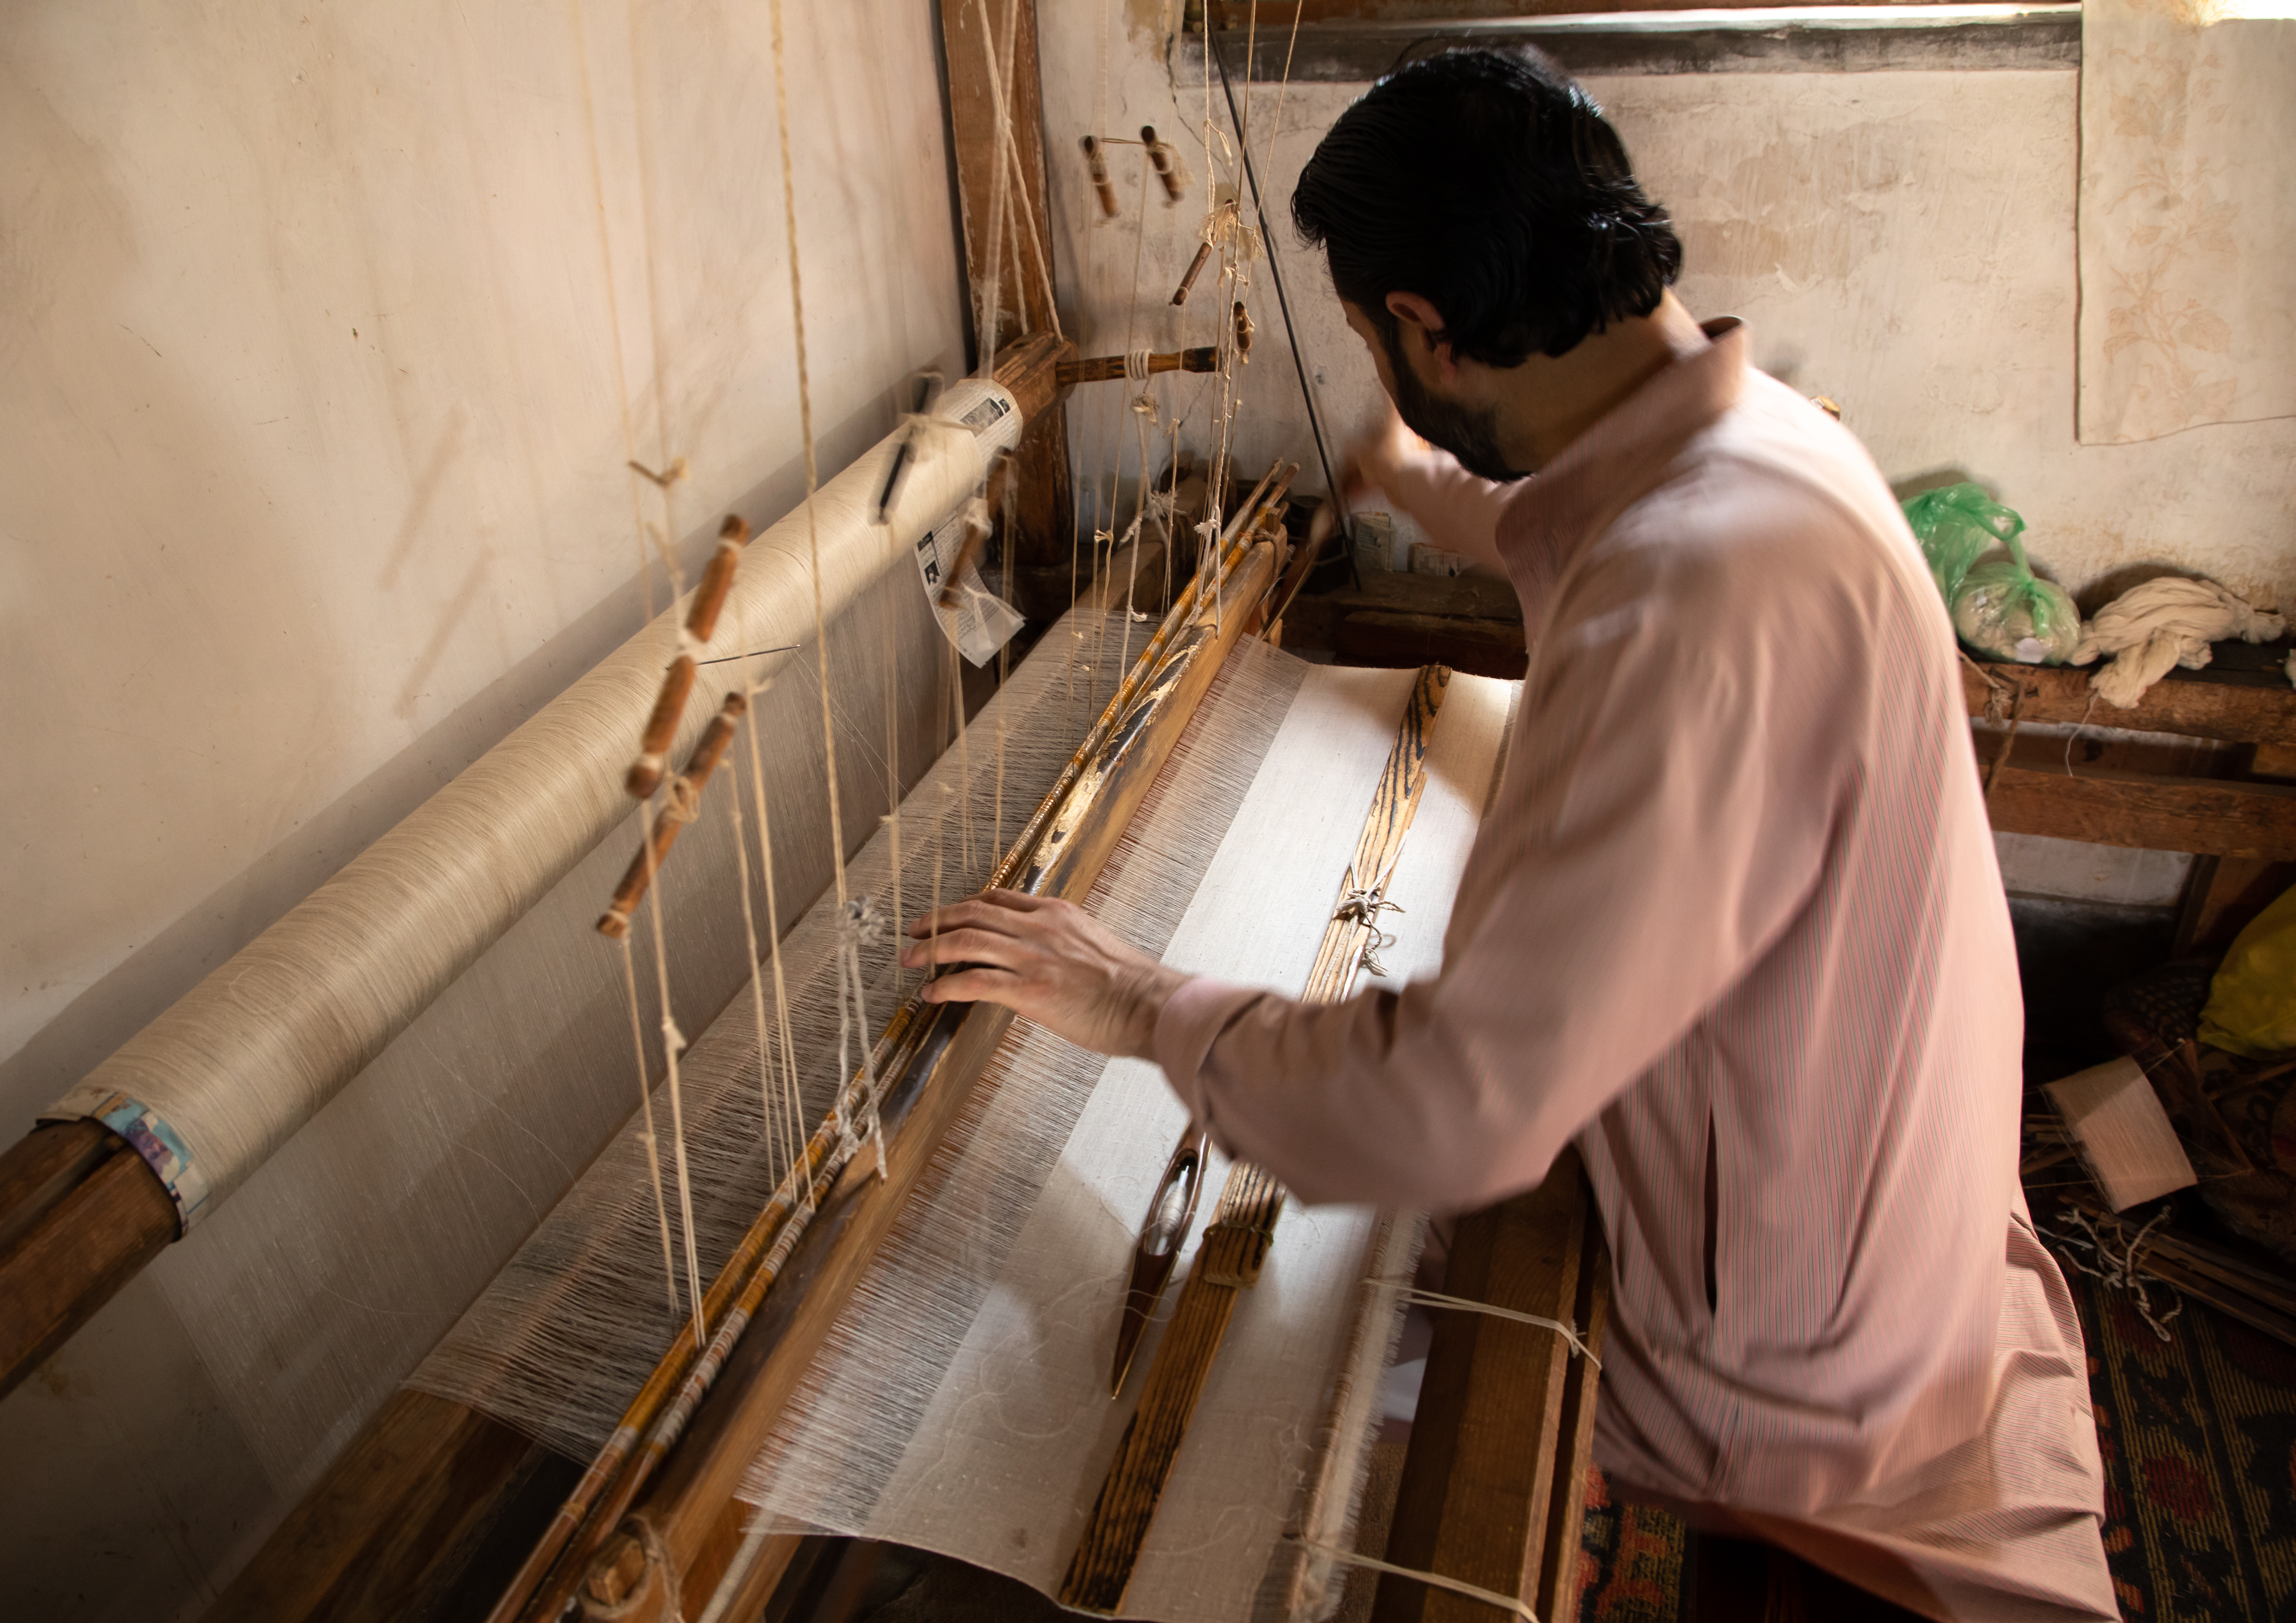
<svg viewBox="0 0 2296 1623"><path fill-rule="evenodd" d="M1706 333L1704 349L1667 363L1564 445L1554 461L1522 480L1499 521L1499 556L1508 574L1529 572L1541 585L1557 581L1665 477L1692 434L1738 402L1747 374L1745 324L1720 317L1699 331Z"/></svg>

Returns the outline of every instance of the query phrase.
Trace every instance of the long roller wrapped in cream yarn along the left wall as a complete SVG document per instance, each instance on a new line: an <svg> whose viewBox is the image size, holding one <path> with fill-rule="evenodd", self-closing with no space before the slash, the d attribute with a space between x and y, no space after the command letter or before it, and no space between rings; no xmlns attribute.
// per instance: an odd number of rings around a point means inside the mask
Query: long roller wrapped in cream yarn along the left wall
<svg viewBox="0 0 2296 1623"><path fill-rule="evenodd" d="M983 390L1001 393L969 379L944 411L971 411ZM916 539L978 489L987 452L1017 434L1010 395L1006 406L983 429L994 441L955 427L918 436L889 526L875 526L875 496L900 436L751 542L703 654L723 661L700 666L677 758L730 686L769 682L799 657L792 647L810 645L808 512L822 613L833 620L879 574L909 567ZM622 769L677 654L682 615L673 604L480 755L96 1065L51 1116L87 1116L113 1095L142 1102L188 1148L191 1175L177 1182L184 1224L214 1210L622 824ZM753 650L776 652L735 659Z"/></svg>

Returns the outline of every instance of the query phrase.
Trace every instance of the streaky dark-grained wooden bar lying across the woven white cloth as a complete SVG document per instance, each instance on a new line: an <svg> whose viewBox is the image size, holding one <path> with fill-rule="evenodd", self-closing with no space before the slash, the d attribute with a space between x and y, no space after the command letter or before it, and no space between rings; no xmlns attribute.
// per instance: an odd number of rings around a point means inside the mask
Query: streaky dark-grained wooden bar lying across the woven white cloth
<svg viewBox="0 0 2296 1623"><path fill-rule="evenodd" d="M1339 902L1309 969L1304 989L1309 1003L1336 1003L1348 996L1366 950L1380 937L1387 882L1426 794L1428 739L1449 684L1446 668L1426 666L1412 686L1387 769L1371 794L1355 859L1341 879ZM1219 1210L1203 1230L1203 1244L1180 1286L1180 1302L1148 1366L1139 1407L1125 1426L1123 1442L1116 1444L1116 1460L1068 1563L1068 1577L1061 1582L1063 1607L1114 1614L1123 1605L1238 1295L1258 1283L1281 1210L1283 1187L1267 1171L1249 1162L1228 1168Z"/></svg>

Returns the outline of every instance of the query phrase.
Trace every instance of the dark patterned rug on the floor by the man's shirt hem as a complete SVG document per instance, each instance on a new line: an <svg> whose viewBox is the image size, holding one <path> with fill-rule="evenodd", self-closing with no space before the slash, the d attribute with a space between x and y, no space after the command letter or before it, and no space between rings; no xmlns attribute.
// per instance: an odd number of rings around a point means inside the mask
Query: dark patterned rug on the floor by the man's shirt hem
<svg viewBox="0 0 2296 1623"><path fill-rule="evenodd" d="M2071 1269L2066 1269L2071 1272ZM2105 1460L2105 1561L2122 1616L2296 1618L2296 1350L2202 1304L2161 1341L2073 1274ZM1678 1623L1683 1524L1587 1485L1582 1623Z"/></svg>

